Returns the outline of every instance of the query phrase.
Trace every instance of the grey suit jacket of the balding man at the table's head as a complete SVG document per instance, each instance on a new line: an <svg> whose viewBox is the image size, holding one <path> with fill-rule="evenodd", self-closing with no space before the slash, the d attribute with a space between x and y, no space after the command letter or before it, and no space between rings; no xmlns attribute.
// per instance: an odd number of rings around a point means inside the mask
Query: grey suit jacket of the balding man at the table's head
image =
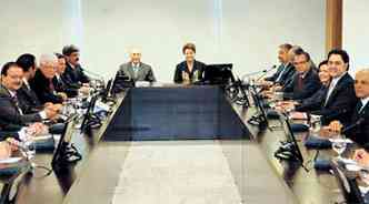
<svg viewBox="0 0 369 204"><path fill-rule="evenodd" d="M148 81L148 82L154 82L157 81L152 68L149 64L140 63L137 73L133 71L133 67L131 62L123 63L119 67L118 73L119 75L126 75L130 80L137 82L137 81Z"/></svg>

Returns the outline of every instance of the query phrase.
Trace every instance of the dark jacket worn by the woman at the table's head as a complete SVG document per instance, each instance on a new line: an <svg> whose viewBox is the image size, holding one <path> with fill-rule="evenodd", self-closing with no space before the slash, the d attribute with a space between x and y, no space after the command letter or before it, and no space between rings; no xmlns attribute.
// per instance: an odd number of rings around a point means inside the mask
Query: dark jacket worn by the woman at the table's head
<svg viewBox="0 0 369 204"><path fill-rule="evenodd" d="M187 67L187 62L183 61L183 62L177 64L173 81L176 83L182 83L183 82L183 78L182 78L183 72L189 74L191 81L196 81L196 80L201 81L203 79L203 72L205 72L206 68L207 68L207 65L205 63L195 60L192 71L190 72ZM195 74L195 73L197 73L197 74ZM195 79L195 78L197 78L197 79Z"/></svg>

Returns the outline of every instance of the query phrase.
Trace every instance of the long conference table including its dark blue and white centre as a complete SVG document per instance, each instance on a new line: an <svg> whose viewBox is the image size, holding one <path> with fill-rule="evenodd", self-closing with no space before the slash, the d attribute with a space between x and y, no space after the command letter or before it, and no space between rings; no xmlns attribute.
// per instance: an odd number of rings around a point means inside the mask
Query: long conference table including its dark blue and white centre
<svg viewBox="0 0 369 204"><path fill-rule="evenodd" d="M236 198L228 200L227 203L328 204L342 201L335 177L313 170L316 151L305 149L301 143L305 135L297 137L308 172L296 163L275 159L273 153L280 141L286 140L285 132L279 129L259 130L248 124L247 120L255 113L255 108L232 104L219 86L161 85L128 89L118 94L112 114L100 129L93 130L89 135L80 130L72 133L72 142L82 153L82 161L47 177L38 177L38 172L22 176L16 185L16 203L207 203L217 193L223 196L220 190L229 190L230 194L235 194ZM279 121L270 120L269 123L278 125ZM326 154L331 153L327 151ZM51 157L50 153L38 153L36 163L48 166ZM166 159L170 164L166 163ZM202 165L201 161L200 164L191 164L199 160L206 161ZM151 175L154 170L150 167L157 163L163 166L154 169L160 172ZM166 165L200 171L201 175L197 175L197 172L166 171ZM213 167L208 170L207 165ZM196 195L195 190L190 192L186 188L199 185L191 177L201 180L199 182L202 183L208 182L209 185L218 185L212 183L215 181L206 180L207 171L209 177L215 176L216 181L218 175L229 172L222 180L228 184L221 184L220 192L201 184L216 192L203 195L209 197L201 201L191 197L179 201L173 196L176 194L170 195L173 191L164 183L167 174L177 177L180 175L179 178L170 177L170 185L181 187L186 195ZM140 173L143 177L140 177ZM151 177L146 178L147 174ZM186 176L181 177L181 174ZM130 176L136 181L131 181ZM124 185L124 182L129 185ZM163 195L158 196L169 197L168 200L138 202L127 197L150 197L151 194L160 194L161 188ZM212 203L226 203L225 201Z"/></svg>

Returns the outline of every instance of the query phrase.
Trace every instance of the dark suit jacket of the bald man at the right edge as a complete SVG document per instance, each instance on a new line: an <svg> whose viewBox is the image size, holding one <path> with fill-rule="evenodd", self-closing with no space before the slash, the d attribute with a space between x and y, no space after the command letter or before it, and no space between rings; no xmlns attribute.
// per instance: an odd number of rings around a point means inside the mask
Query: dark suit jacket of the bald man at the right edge
<svg viewBox="0 0 369 204"><path fill-rule="evenodd" d="M359 145L365 145L369 143L369 103L366 104L362 111L359 111L360 109L357 105L351 116L350 123L345 125L345 128L348 128L345 134L347 137L350 137ZM349 129L349 126L352 128Z"/></svg>

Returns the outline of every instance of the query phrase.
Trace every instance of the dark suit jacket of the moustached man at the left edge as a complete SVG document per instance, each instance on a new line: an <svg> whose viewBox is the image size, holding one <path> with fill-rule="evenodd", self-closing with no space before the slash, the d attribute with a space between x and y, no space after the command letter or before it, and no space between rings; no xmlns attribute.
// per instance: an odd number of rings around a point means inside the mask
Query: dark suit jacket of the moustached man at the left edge
<svg viewBox="0 0 369 204"><path fill-rule="evenodd" d="M21 114L18 99L0 85L0 128L2 131L17 131L27 123L42 121L39 113ZM18 130L18 131L19 131Z"/></svg>

